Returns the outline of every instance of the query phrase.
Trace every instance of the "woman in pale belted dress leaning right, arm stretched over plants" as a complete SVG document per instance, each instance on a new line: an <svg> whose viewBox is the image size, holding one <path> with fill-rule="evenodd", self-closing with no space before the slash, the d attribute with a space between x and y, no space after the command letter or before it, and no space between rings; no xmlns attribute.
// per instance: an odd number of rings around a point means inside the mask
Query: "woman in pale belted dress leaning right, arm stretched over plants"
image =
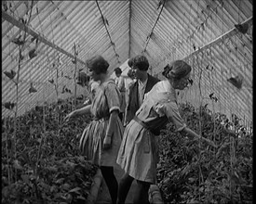
<svg viewBox="0 0 256 204"><path fill-rule="evenodd" d="M187 87L190 72L191 67L182 60L166 66L163 75L167 80L155 84L146 94L133 120L128 123L116 159L125 171L119 183L117 203L125 203L132 179L136 179L138 184L133 203L149 203L148 190L156 181L155 135L159 134L168 121L172 121L184 136L201 138L215 147L210 140L188 128L179 113L175 89Z"/></svg>

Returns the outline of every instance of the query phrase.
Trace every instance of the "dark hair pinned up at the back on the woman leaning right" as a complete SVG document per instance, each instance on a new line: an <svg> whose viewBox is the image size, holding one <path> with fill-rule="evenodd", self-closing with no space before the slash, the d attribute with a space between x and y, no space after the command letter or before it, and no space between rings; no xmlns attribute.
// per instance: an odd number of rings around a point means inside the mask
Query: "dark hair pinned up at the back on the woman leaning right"
<svg viewBox="0 0 256 204"><path fill-rule="evenodd" d="M168 64L162 74L166 78L181 79L191 71L190 65L182 60L173 61L170 65Z"/></svg>

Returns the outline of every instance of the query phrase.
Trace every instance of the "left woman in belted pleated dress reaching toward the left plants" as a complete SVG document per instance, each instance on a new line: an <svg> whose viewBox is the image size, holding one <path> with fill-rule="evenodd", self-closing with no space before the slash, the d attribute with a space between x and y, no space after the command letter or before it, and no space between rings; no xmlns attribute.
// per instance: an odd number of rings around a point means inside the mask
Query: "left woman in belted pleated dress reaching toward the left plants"
<svg viewBox="0 0 256 204"><path fill-rule="evenodd" d="M84 155L88 155L88 159L100 166L112 202L116 203L118 183L114 165L124 132L123 124L118 117L120 92L115 81L108 77L109 63L103 57L89 58L87 67L91 79L99 81L100 85L91 105L74 110L66 116L65 121L81 114L93 115L93 121L88 124L80 139L80 150Z"/></svg>

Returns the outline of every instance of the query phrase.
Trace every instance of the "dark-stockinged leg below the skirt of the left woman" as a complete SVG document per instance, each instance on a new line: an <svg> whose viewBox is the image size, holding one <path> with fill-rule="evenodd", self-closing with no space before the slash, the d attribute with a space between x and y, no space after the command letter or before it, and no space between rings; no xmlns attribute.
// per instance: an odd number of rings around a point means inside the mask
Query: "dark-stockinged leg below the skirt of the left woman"
<svg viewBox="0 0 256 204"><path fill-rule="evenodd" d="M116 203L118 183L114 174L114 167L101 166L101 174L108 186L108 190L112 199L112 203Z"/></svg>

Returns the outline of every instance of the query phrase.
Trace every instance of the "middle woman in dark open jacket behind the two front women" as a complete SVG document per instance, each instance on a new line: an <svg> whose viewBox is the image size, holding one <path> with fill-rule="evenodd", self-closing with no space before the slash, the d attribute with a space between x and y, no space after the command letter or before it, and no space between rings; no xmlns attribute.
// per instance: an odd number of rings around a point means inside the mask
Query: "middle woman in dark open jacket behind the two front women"
<svg viewBox="0 0 256 204"><path fill-rule="evenodd" d="M125 111L124 125L131 121L140 108L144 95L148 93L158 79L148 74L148 59L144 56L132 57L128 60L128 66L132 70L132 75L136 79L134 83L130 83L127 91L127 105Z"/></svg>

